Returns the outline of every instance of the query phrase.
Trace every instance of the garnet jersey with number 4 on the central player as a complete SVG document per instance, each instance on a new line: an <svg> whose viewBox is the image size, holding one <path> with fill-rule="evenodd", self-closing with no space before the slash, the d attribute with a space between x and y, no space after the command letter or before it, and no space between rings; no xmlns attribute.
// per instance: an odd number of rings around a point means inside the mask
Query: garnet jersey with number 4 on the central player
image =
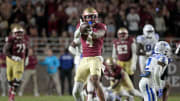
<svg viewBox="0 0 180 101"><path fill-rule="evenodd" d="M99 30L106 31L106 25L103 23L96 23L93 28L93 32L97 32ZM102 47L104 43L104 37L90 39L89 35L85 35L81 33L81 44L83 48L83 57L90 56L101 56Z"/></svg>

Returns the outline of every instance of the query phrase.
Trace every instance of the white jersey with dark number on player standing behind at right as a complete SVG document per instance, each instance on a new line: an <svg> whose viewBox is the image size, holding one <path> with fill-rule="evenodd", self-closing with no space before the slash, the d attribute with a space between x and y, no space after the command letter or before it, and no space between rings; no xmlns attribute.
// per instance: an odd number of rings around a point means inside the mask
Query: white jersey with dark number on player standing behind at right
<svg viewBox="0 0 180 101"><path fill-rule="evenodd" d="M139 35L136 38L137 43L142 44L146 54L151 55L153 53L155 44L159 41L159 35L155 34L152 39L148 39L144 35Z"/></svg>

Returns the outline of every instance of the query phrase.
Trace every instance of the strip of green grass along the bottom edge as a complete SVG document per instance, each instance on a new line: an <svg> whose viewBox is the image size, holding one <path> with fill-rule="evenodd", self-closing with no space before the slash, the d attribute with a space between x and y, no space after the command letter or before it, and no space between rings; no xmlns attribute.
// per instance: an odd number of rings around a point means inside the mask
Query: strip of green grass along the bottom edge
<svg viewBox="0 0 180 101"><path fill-rule="evenodd" d="M0 101L8 101L7 97L0 97ZM74 101L72 96L40 96L40 97L33 97L33 96L23 96L23 97L16 97L15 101ZM136 99L135 101L141 101ZM180 96L170 96L168 101L180 101Z"/></svg>

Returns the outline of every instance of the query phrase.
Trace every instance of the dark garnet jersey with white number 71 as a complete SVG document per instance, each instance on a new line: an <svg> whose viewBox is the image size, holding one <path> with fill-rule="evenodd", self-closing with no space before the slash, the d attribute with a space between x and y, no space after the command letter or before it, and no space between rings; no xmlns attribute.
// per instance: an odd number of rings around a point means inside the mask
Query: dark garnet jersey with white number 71
<svg viewBox="0 0 180 101"><path fill-rule="evenodd" d="M10 54L12 56L19 56L21 58L25 58L26 49L28 47L28 37L25 36L22 39L18 39L14 36L9 36L6 40L8 44L10 44Z"/></svg>

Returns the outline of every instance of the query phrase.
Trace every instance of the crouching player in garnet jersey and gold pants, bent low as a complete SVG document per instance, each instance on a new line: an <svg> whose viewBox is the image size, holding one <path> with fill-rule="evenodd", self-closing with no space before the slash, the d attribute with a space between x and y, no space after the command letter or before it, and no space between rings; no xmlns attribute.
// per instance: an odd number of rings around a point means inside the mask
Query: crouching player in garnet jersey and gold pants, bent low
<svg viewBox="0 0 180 101"><path fill-rule="evenodd" d="M128 97L129 101L134 100L133 96L142 98L142 94L134 88L128 74L117 64L115 59L107 58L105 60L103 75L111 81L109 89L112 89L115 96Z"/></svg>

